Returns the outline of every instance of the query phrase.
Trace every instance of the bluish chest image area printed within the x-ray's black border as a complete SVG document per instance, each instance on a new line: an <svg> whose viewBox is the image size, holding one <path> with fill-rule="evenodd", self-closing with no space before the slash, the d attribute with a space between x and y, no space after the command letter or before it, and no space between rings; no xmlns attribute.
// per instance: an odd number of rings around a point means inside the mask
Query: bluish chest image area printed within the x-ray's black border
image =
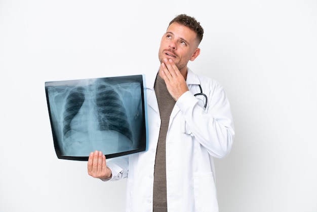
<svg viewBox="0 0 317 212"><path fill-rule="evenodd" d="M138 148L143 119L139 83L98 79L84 86L48 89L62 154L86 156L97 148L113 154Z"/></svg>

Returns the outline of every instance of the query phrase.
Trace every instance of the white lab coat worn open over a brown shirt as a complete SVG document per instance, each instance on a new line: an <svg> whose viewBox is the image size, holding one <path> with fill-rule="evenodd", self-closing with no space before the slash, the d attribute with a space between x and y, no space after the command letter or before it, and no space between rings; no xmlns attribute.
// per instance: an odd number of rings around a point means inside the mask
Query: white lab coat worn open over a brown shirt
<svg viewBox="0 0 317 212"><path fill-rule="evenodd" d="M112 158L112 179L127 179L126 211L153 211L153 172L161 119L154 92L155 76L146 76L149 129L148 151ZM213 157L231 149L234 127L230 105L221 85L188 68L190 91L176 102L166 138L167 204L169 212L218 211ZM208 96L206 110L203 93ZM185 122L186 120L186 122ZM186 133L184 133L186 131Z"/></svg>

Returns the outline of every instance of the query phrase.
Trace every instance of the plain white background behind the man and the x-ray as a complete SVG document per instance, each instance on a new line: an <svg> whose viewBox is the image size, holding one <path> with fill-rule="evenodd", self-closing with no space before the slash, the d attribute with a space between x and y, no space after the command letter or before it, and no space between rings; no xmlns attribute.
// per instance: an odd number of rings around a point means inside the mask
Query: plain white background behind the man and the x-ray
<svg viewBox="0 0 317 212"><path fill-rule="evenodd" d="M124 211L125 180L56 157L44 83L156 72L180 13L205 29L189 67L223 85L234 117L220 211L317 211L313 0L0 0L0 211Z"/></svg>

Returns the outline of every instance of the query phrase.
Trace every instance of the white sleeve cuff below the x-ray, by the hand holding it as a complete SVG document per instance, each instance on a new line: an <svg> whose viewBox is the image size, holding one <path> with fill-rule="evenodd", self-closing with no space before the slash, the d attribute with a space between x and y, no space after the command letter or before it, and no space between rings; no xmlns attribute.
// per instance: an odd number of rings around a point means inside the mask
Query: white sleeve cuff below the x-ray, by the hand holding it
<svg viewBox="0 0 317 212"><path fill-rule="evenodd" d="M107 166L111 169L112 176L103 181L117 181L128 176L128 156L107 159Z"/></svg>

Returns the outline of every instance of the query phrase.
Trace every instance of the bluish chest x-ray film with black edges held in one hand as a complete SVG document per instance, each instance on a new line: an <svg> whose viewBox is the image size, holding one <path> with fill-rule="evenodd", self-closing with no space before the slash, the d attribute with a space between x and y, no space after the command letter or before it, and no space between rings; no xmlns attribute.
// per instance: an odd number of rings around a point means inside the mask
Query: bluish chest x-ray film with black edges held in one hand
<svg viewBox="0 0 317 212"><path fill-rule="evenodd" d="M54 147L59 159L88 160L146 151L143 75L45 82Z"/></svg>

